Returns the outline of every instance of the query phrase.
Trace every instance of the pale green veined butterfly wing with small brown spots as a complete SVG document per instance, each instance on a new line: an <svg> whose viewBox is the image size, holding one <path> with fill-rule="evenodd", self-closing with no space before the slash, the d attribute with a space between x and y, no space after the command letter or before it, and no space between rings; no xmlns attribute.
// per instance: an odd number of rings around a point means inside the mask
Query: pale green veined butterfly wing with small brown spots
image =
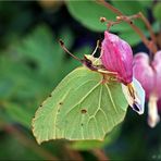
<svg viewBox="0 0 161 161"><path fill-rule="evenodd" d="M40 144L50 139L102 140L123 121L127 102L120 83L102 84L102 75L78 67L53 90L33 120Z"/></svg>

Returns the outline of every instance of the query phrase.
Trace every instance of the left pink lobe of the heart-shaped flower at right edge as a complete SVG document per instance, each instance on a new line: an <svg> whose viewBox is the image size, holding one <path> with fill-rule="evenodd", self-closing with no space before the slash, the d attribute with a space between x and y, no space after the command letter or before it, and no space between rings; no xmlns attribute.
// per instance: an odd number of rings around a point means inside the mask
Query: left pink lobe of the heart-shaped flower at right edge
<svg viewBox="0 0 161 161"><path fill-rule="evenodd" d="M149 63L149 57L144 52L139 52L134 57L133 73L135 78L141 83L144 89L146 90L147 99L154 87L154 73Z"/></svg>

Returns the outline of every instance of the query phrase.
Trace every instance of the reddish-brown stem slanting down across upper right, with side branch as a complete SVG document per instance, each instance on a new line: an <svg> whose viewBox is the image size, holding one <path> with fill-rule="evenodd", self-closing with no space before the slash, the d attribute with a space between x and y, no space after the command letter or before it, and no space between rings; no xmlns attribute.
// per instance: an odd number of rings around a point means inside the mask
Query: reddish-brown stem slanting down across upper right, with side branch
<svg viewBox="0 0 161 161"><path fill-rule="evenodd" d="M111 10L113 13L115 13L116 15L121 16L121 17L128 17L126 15L124 15L120 10L115 9L114 7L112 7L110 3L106 2L104 0L97 0L98 3L104 5L106 8L108 8L109 10ZM143 14L139 15L140 18L146 23L146 25L148 25L148 29L150 29L150 35L152 34L151 39L153 39L153 32L151 33L152 28L151 26L149 27L149 22L148 20L145 18L145 16ZM143 42L145 44L145 46L153 53L157 52L157 47L154 45L156 40L153 44L151 44L151 40L148 40L147 37L143 34L143 32L135 25L133 24L133 22L131 21L131 18L123 18L123 21L125 21L141 38ZM148 23L147 23L148 22Z"/></svg>

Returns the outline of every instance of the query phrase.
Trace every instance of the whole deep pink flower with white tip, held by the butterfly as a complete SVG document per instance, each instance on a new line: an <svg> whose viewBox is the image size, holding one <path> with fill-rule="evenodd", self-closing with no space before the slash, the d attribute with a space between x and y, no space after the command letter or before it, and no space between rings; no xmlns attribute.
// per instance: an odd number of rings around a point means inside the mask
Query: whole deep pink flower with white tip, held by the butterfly
<svg viewBox="0 0 161 161"><path fill-rule="evenodd" d="M144 113L145 90L133 77L133 51L129 45L114 34L104 32L100 55L107 71L116 73L124 96L134 111Z"/></svg>

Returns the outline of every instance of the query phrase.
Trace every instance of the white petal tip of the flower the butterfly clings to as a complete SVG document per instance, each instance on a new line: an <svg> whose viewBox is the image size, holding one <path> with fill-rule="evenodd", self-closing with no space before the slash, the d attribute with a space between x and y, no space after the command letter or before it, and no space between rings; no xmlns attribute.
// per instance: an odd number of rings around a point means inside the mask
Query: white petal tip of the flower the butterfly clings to
<svg viewBox="0 0 161 161"><path fill-rule="evenodd" d="M143 114L145 112L145 90L140 83L133 77L129 85L122 84L122 90L132 109L138 114Z"/></svg>

